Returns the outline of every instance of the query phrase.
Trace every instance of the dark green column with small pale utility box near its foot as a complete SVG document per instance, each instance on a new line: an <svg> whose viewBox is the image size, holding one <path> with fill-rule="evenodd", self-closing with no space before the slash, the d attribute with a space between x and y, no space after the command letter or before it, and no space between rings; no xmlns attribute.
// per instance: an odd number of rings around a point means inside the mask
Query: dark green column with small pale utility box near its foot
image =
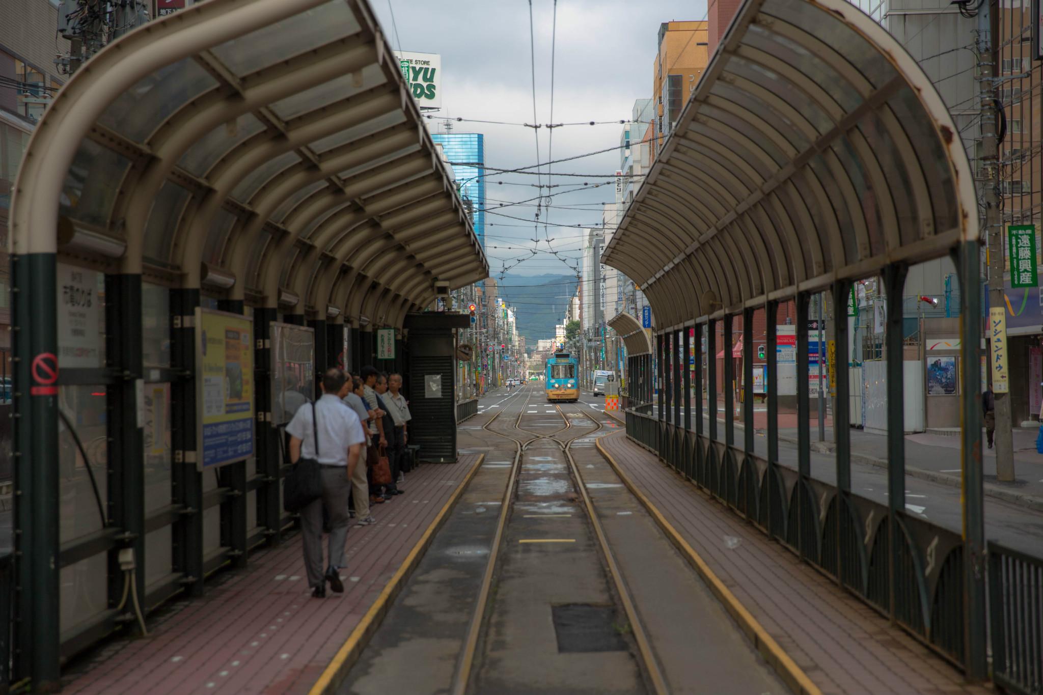
<svg viewBox="0 0 1043 695"><path fill-rule="evenodd" d="M122 528L122 547L134 548L138 596L145 596L145 452L138 421L142 367L141 275L105 275L105 362L119 377L106 390L108 408L108 508L113 526ZM144 406L144 403L141 404ZM108 553L108 606L123 594L119 552Z"/></svg>

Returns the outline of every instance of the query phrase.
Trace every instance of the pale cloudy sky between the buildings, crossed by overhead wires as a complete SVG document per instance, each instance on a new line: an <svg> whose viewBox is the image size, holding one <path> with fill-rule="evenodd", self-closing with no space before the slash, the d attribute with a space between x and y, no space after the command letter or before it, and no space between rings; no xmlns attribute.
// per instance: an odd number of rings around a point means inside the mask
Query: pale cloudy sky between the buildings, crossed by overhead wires
<svg viewBox="0 0 1043 695"><path fill-rule="evenodd" d="M440 53L442 56L441 117L503 123L533 123L533 60L526 0L371 0L391 45L404 51ZM392 14L394 24L392 25ZM703 20L704 0L558 0L554 43L554 117L551 120L552 30L554 0L532 0L535 27L535 120L538 123L587 123L614 121L606 125L564 126L553 130L522 125L454 122L454 132L485 135L485 164L514 169L561 159L620 144L620 120L629 120L635 99L652 96L652 68L659 24L671 20ZM396 32L397 34L396 34ZM432 131L444 132L437 119ZM537 159L538 134L539 159ZM561 163L553 172L612 175L620 167L618 150ZM524 174L489 175L486 210L501 203L537 198L534 184L557 188L549 213L540 214L550 224L538 235L531 220L537 200L514 204L499 212L522 218L486 214L486 253L495 277L506 267L520 275L568 273L566 264L548 249L575 265L580 255L578 228L558 225L600 226L602 202L614 202L611 178L552 177ZM501 182L502 181L502 182ZM596 183L609 184L591 189ZM587 183L583 190L582 183ZM565 193L573 190L575 193ZM532 240L540 241L534 243ZM550 244L547 240L553 240ZM508 248L510 247L510 248ZM538 249L533 255L529 249ZM518 263L520 257L526 257Z"/></svg>

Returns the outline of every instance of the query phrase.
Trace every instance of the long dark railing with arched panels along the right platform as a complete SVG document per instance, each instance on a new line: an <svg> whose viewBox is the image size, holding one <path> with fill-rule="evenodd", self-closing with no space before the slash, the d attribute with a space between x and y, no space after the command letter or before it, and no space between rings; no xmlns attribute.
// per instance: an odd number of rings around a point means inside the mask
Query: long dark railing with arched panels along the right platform
<svg viewBox="0 0 1043 695"><path fill-rule="evenodd" d="M634 442L948 661L963 665L964 556L959 533L898 513L893 541L886 504L839 494L835 486L801 479L793 468L770 465L742 447L635 409L626 412L626 423ZM898 559L894 568L892 557ZM1041 604L1034 605L1038 611ZM1039 635L1043 622L1037 618L1033 624ZM1034 644L1039 647L1040 642Z"/></svg>

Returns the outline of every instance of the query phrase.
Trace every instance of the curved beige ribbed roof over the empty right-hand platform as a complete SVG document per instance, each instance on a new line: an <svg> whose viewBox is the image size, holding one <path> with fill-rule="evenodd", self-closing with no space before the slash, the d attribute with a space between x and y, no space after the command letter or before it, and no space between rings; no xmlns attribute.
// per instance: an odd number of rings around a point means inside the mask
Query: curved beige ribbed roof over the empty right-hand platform
<svg viewBox="0 0 1043 695"><path fill-rule="evenodd" d="M930 80L844 0L748 0L602 260L659 326L736 312L978 238Z"/></svg>

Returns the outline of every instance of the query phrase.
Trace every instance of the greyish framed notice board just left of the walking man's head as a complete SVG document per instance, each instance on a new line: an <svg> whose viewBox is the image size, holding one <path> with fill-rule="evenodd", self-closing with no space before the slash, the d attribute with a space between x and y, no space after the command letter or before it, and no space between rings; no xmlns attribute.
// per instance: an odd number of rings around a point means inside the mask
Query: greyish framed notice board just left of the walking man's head
<svg viewBox="0 0 1043 695"><path fill-rule="evenodd" d="M271 425L285 425L315 400L315 329L272 322Z"/></svg>

